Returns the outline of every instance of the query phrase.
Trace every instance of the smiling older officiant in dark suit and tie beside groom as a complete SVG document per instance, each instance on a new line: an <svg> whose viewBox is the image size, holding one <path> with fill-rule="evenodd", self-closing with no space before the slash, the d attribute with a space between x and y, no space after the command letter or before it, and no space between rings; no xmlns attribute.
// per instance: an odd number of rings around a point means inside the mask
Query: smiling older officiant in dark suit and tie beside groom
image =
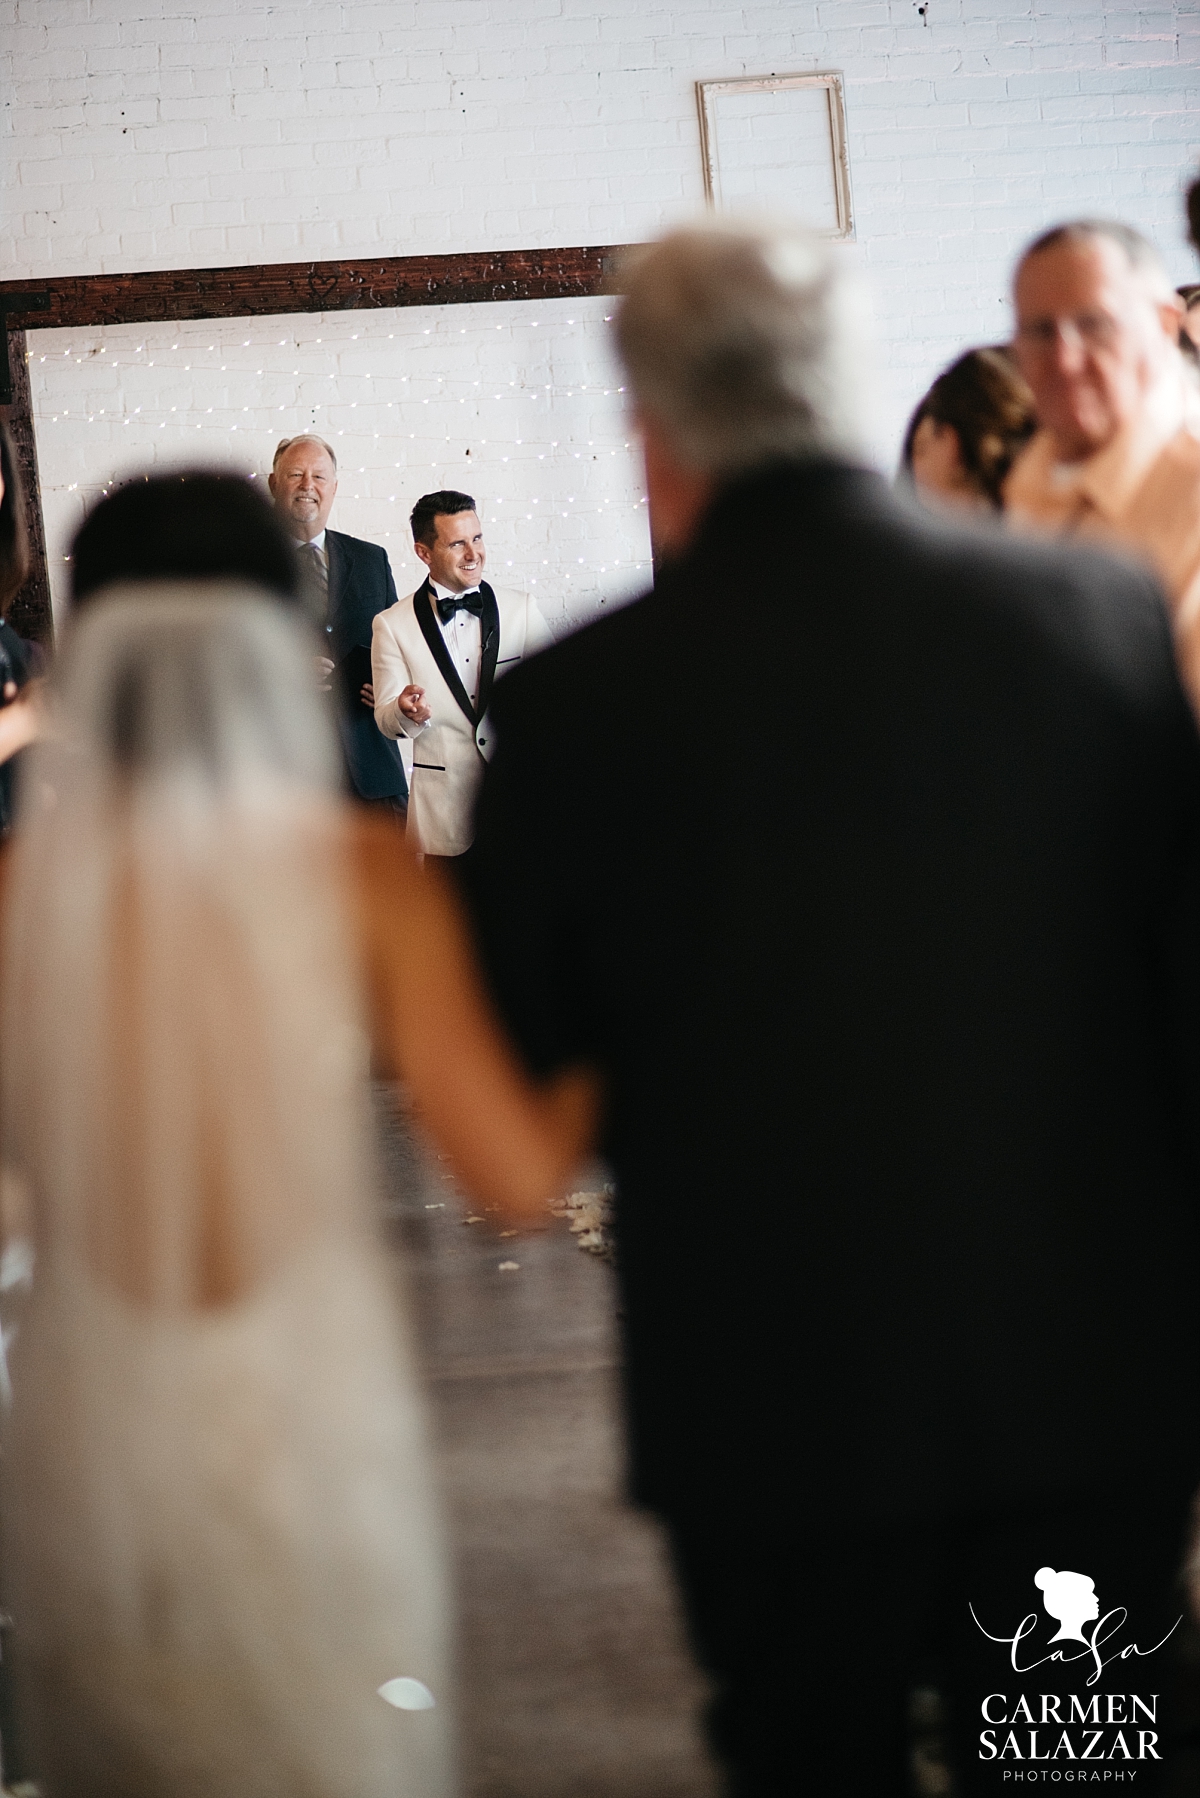
<svg viewBox="0 0 1200 1798"><path fill-rule="evenodd" d="M290 530L304 574L304 597L326 654L349 784L360 800L403 813L408 784L398 746L374 721L371 631L396 604L387 550L329 530L338 464L322 437L284 437L268 478L275 511Z"/></svg>

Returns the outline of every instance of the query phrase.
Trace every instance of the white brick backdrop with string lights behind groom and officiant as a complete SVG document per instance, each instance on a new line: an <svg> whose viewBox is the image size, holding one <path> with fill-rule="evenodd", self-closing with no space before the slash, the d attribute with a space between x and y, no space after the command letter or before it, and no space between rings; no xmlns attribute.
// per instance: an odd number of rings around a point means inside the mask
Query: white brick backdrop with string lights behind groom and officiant
<svg viewBox="0 0 1200 1798"><path fill-rule="evenodd" d="M423 575L421 493L475 494L495 584L538 595L561 635L649 583L640 458L612 349L612 300L529 300L29 336L56 606L85 509L182 462L264 480L281 437L338 457L338 530L383 543L399 592Z"/></svg>

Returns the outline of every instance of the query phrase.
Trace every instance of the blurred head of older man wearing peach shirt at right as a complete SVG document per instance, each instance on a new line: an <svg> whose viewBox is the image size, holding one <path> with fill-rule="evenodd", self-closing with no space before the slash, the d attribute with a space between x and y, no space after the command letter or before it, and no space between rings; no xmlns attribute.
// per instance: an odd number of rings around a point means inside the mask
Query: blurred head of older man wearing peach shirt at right
<svg viewBox="0 0 1200 1798"><path fill-rule="evenodd" d="M1016 360L1067 462L1112 442L1178 356L1180 302L1128 225L1079 219L1016 264Z"/></svg>

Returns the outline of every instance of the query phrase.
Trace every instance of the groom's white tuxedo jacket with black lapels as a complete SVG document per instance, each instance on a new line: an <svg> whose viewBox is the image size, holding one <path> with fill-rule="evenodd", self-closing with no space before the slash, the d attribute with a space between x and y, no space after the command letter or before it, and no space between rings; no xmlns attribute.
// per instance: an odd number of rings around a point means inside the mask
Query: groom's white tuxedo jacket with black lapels
<svg viewBox="0 0 1200 1798"><path fill-rule="evenodd" d="M428 726L412 737L408 786L408 832L430 856L461 856L471 847L471 807L491 755L491 687L552 642L527 593L497 593L486 581L480 581L480 592L479 708L471 705L450 658L428 583L376 613L372 628L374 721L383 735L410 735L396 705L405 687L425 687L425 703L432 712Z"/></svg>

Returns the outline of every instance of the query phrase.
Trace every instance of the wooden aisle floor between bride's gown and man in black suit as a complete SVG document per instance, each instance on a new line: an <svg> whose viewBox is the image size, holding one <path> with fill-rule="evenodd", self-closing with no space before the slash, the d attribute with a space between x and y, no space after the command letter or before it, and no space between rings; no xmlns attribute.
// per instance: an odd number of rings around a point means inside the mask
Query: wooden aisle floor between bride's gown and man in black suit
<svg viewBox="0 0 1200 1798"><path fill-rule="evenodd" d="M452 1519L466 1798L716 1798L662 1541L621 1498L612 1269L561 1219L464 1223L390 1109L383 1149Z"/></svg>

